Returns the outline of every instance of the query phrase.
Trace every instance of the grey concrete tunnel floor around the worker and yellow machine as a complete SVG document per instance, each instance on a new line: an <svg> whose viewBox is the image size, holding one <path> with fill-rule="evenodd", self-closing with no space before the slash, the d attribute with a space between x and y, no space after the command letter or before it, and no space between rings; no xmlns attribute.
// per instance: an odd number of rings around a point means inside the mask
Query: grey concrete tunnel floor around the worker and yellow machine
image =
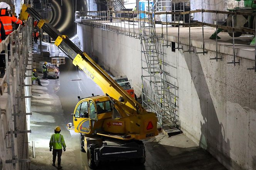
<svg viewBox="0 0 256 170"><path fill-rule="evenodd" d="M77 71L71 61L61 66L59 79L42 80L43 86L32 87L31 141L35 141L35 156L32 158L30 145L30 169L54 170L49 140L54 128L61 127L61 134L67 145L62 153L62 169L86 169L86 153L80 152L79 135L67 130L66 124L72 122L71 113L77 103L77 96L85 97L91 93L103 94L101 89L82 71ZM82 79L81 81L71 81ZM158 135L144 140L146 149L145 166L133 165L130 161L101 163L101 170L224 170L226 169L205 150L198 147L183 134L167 138Z"/></svg>

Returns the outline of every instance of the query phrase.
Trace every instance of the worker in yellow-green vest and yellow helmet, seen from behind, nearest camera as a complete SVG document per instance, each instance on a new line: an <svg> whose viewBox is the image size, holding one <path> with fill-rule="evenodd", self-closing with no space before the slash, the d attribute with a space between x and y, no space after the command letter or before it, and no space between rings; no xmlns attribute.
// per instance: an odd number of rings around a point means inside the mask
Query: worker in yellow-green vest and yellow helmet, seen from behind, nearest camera
<svg viewBox="0 0 256 170"><path fill-rule="evenodd" d="M63 151L66 151L66 144L64 141L64 137L59 134L61 132L61 128L57 126L54 130L54 134L52 134L51 140L50 140L50 152L52 151L52 166L55 167L56 162L56 156L58 155L58 169L61 167L61 155L62 155L62 146ZM53 150L52 150L53 148Z"/></svg>

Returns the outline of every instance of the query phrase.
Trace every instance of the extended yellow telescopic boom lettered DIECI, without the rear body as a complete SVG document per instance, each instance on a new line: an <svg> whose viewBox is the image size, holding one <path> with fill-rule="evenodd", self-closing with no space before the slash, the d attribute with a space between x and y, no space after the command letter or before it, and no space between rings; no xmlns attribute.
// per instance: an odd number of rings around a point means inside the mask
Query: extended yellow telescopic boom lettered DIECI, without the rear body
<svg viewBox="0 0 256 170"><path fill-rule="evenodd" d="M67 56L73 61L75 66L83 70L96 84L98 84L104 93L108 94L115 101L115 108L120 113L121 117L144 115L148 114L148 118L152 119L154 125L155 135L157 132L157 119L155 116L152 118L152 114L147 112L133 97L131 97L121 86L116 83L93 59L91 59L86 53L81 51L69 38L65 35L61 35L49 22L42 20L40 15L30 7L30 5L24 4L22 6L22 12L20 19L27 20L28 14L37 20L39 28L42 28L49 36L55 41L55 45L58 46ZM153 136L155 136L153 135ZM152 137L152 136L151 136Z"/></svg>

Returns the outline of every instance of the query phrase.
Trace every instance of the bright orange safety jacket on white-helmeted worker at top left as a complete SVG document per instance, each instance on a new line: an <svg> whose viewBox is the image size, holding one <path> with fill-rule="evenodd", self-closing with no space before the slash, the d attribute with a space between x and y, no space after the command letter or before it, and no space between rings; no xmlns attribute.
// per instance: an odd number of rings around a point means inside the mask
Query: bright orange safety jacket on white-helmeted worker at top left
<svg viewBox="0 0 256 170"><path fill-rule="evenodd" d="M10 15L6 9L0 9L0 19L3 23L3 28L5 29L5 35L12 33L12 22L21 25L24 24L22 20L14 17L14 15Z"/></svg>

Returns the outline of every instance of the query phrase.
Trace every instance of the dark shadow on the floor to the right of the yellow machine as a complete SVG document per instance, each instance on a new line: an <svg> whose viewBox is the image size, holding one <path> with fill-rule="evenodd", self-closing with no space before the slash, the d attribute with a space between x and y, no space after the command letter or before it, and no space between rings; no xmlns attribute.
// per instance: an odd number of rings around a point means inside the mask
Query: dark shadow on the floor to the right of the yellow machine
<svg viewBox="0 0 256 170"><path fill-rule="evenodd" d="M179 144L186 145L186 141ZM201 147L174 147L159 142L144 142L147 162L152 170L226 170Z"/></svg>

